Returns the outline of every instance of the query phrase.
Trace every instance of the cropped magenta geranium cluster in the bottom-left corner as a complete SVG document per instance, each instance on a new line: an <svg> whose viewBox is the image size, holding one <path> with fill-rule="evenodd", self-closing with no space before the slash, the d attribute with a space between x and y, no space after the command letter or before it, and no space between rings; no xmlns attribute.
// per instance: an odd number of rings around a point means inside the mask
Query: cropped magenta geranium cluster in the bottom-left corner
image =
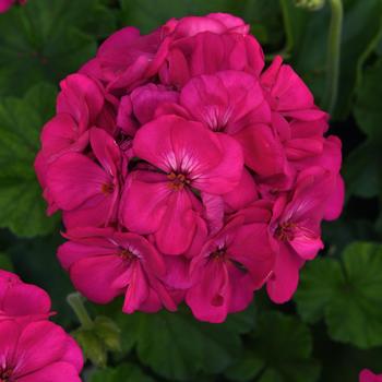
<svg viewBox="0 0 382 382"><path fill-rule="evenodd" d="M50 308L45 290L0 270L1 382L81 381L81 349Z"/></svg>

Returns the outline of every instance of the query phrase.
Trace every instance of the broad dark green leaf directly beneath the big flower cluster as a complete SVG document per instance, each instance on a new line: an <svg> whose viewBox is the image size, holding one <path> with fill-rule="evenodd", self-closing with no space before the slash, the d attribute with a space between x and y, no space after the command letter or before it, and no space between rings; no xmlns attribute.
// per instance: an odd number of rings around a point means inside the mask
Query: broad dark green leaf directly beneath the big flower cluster
<svg viewBox="0 0 382 382"><path fill-rule="evenodd" d="M223 324L199 322L183 309L128 315L115 308L97 308L103 314L107 310L122 330L122 349L135 346L142 363L171 381L192 379L200 371L222 372L239 357L240 334L254 323L253 306Z"/></svg>

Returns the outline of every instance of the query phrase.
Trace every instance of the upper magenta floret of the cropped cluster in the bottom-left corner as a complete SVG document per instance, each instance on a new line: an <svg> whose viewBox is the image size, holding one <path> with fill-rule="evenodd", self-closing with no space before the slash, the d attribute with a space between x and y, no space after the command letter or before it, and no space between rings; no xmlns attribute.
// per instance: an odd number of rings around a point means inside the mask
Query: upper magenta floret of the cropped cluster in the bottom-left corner
<svg viewBox="0 0 382 382"><path fill-rule="evenodd" d="M0 321L47 319L50 308L50 298L45 290L24 284L14 273L0 270Z"/></svg>

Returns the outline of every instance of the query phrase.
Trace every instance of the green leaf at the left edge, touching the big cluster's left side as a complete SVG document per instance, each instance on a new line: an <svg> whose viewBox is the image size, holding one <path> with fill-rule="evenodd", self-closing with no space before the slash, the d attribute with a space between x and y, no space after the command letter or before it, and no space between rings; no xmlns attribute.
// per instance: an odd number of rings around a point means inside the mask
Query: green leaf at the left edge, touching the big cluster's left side
<svg viewBox="0 0 382 382"><path fill-rule="evenodd" d="M46 216L33 163L44 122L53 114L56 89L37 85L23 99L0 102L0 226L24 237L45 235L57 227Z"/></svg>

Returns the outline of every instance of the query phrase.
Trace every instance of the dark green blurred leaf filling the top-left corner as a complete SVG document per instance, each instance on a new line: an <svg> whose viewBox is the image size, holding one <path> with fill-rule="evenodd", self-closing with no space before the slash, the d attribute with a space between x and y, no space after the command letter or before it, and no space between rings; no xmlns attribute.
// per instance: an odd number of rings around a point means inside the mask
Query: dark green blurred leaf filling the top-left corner
<svg viewBox="0 0 382 382"><path fill-rule="evenodd" d="M115 29L114 19L99 0L33 0L1 14L0 95L80 69L95 55L95 37Z"/></svg>

